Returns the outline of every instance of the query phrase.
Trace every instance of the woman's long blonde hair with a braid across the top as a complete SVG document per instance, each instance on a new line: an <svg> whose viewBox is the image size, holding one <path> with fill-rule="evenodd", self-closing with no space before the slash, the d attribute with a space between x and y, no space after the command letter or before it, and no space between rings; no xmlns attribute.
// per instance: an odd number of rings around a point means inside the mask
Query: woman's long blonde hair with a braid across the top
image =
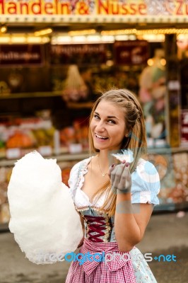
<svg viewBox="0 0 188 283"><path fill-rule="evenodd" d="M136 169L139 158L146 154L147 149L147 141L146 141L146 129L145 122L143 118L143 111L141 109L141 105L139 100L136 98L134 93L128 91L127 89L112 89L107 91L95 101L93 105L93 109L90 113L90 122L93 119L93 114L95 109L97 108L100 101L105 100L110 103L114 103L116 107L124 110L124 119L126 129L129 131L129 136L124 137L122 140L121 149L131 149L134 154L134 161L130 165L131 173ZM89 122L89 125L90 125ZM89 128L89 146L90 146L90 154L97 153L99 150L95 149L93 144L92 134ZM93 195L93 198L98 195L100 197L102 193L107 190L107 199L105 204L102 206L102 209L105 209L107 204L110 204L110 209L108 210L108 214L110 216L114 215L115 206L116 206L116 194L114 194L111 190L110 181L107 181L105 185L99 188L98 192Z"/></svg>

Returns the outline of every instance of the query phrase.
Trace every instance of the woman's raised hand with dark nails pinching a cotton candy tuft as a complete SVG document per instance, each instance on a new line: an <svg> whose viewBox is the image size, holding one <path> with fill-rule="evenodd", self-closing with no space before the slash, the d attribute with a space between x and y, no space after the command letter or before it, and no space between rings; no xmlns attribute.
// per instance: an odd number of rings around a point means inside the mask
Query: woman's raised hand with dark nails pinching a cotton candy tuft
<svg viewBox="0 0 188 283"><path fill-rule="evenodd" d="M127 193L131 191L131 173L129 163L122 161L121 164L110 166L108 175L111 179L112 191L118 193Z"/></svg>

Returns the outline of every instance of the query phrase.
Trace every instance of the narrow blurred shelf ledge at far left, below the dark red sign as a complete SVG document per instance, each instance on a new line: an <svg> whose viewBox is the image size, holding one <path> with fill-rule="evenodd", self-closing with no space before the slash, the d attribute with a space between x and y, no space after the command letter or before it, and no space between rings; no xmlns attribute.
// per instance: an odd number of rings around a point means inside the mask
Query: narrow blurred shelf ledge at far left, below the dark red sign
<svg viewBox="0 0 188 283"><path fill-rule="evenodd" d="M33 92L33 93L8 93L0 96L0 99L17 99L17 98L39 98L39 97L53 97L62 96L62 91L49 92Z"/></svg>

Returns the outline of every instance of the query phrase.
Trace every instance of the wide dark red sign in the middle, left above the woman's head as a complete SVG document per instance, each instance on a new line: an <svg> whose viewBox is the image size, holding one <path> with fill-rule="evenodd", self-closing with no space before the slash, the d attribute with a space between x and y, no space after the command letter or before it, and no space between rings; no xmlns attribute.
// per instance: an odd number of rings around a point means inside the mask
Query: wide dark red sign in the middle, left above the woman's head
<svg viewBox="0 0 188 283"><path fill-rule="evenodd" d="M52 64L102 64L107 61L107 45L51 45L50 54Z"/></svg>

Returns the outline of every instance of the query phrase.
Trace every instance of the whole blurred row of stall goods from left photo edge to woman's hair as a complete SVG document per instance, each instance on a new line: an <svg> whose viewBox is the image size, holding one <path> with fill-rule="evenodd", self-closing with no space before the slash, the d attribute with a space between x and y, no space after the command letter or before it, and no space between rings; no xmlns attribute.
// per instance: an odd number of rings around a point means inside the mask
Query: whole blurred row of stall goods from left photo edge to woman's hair
<svg viewBox="0 0 188 283"><path fill-rule="evenodd" d="M0 121L0 158L20 158L34 149L43 156L68 153L72 144L80 145L81 151L88 150L86 119L74 120L72 125L58 131L50 117L19 117L12 119L8 125ZM18 151L16 155L15 150Z"/></svg>

